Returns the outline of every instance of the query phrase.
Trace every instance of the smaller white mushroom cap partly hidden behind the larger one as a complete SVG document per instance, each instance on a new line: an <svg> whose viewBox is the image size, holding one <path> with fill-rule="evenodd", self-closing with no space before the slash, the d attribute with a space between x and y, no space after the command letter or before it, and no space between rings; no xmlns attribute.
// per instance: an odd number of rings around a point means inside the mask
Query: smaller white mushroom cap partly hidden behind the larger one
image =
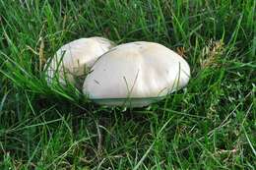
<svg viewBox="0 0 256 170"><path fill-rule="evenodd" d="M49 59L45 66L47 83L57 78L60 84L75 84L76 77L85 75L96 59L114 46L114 43L103 37L80 38L63 45Z"/></svg>

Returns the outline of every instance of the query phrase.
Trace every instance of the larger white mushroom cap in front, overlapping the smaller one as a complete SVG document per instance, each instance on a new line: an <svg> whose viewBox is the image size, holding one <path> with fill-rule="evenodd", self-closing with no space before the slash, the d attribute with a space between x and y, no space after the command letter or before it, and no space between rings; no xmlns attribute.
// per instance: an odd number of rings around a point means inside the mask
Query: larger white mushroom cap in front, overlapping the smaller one
<svg viewBox="0 0 256 170"><path fill-rule="evenodd" d="M118 45L93 66L83 92L99 104L140 107L188 84L190 68L177 53L154 42Z"/></svg>

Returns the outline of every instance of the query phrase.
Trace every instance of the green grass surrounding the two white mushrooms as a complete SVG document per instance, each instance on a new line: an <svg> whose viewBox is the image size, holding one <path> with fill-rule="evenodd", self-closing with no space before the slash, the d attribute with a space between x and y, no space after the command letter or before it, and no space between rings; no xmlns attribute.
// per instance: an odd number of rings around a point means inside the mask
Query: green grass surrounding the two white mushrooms
<svg viewBox="0 0 256 170"><path fill-rule="evenodd" d="M0 0L0 169L255 169L255 0ZM147 108L49 87L43 61L100 35L182 53L185 89Z"/></svg>

